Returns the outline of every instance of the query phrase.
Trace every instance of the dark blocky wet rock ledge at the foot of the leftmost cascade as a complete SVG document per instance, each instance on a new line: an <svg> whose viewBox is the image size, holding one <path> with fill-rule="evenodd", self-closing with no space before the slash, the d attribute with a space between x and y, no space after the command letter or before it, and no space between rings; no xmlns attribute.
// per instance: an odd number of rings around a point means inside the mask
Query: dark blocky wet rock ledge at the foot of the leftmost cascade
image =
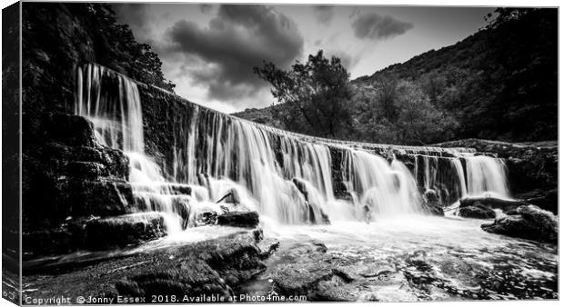
<svg viewBox="0 0 564 307"><path fill-rule="evenodd" d="M164 235L165 218L161 213L131 213L86 223L86 247L91 250L125 247Z"/></svg>

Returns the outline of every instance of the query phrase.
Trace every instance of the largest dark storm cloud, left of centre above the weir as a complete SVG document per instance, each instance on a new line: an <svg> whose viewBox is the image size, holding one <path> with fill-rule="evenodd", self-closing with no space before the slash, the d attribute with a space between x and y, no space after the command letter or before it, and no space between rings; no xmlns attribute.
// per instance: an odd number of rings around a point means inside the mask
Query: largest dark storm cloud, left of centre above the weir
<svg viewBox="0 0 564 307"><path fill-rule="evenodd" d="M302 54L304 39L286 15L265 5L220 5L206 27L182 20L166 32L168 55L196 55L206 68L188 69L208 97L232 100L266 84L253 74L263 60L288 67Z"/></svg>

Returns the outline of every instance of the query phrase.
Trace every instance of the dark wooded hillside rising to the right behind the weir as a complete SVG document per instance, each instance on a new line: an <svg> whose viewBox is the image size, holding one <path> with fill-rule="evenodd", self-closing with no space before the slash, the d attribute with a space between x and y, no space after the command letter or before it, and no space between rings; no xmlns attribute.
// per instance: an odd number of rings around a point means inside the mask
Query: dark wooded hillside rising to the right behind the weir
<svg viewBox="0 0 564 307"><path fill-rule="evenodd" d="M351 97L339 100L347 124L333 134L281 120L279 114L296 118L297 110L276 94L280 104L236 115L298 133L375 143L557 139L558 11L504 8L487 18L485 28L456 45L348 82ZM277 83L266 80L274 94ZM311 105L310 113L326 106Z"/></svg>

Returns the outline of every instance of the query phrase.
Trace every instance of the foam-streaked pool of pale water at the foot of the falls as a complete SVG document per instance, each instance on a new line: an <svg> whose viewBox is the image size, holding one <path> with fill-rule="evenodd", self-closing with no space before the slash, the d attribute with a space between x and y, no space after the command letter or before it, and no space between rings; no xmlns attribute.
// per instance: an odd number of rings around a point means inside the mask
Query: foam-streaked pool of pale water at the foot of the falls
<svg viewBox="0 0 564 307"><path fill-rule="evenodd" d="M267 272L241 291L270 289L268 283L285 262L318 261L356 278L337 284L352 294L349 300L558 298L558 246L486 233L480 225L487 222L408 215L369 224L266 225L266 236L277 238L280 249L267 261ZM327 253L318 259L301 257L296 244L305 242L323 243ZM389 272L363 273L370 268Z"/></svg>

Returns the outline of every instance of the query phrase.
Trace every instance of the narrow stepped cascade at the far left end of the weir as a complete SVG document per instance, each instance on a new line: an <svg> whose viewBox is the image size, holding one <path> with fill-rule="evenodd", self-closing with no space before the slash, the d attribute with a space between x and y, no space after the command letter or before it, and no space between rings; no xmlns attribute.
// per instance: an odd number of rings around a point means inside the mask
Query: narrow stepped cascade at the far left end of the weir
<svg viewBox="0 0 564 307"><path fill-rule="evenodd" d="M178 232L173 193L160 167L145 154L143 114L137 84L96 64L77 72L76 114L88 118L101 144L120 149L129 158L132 183L140 210L165 213L169 233Z"/></svg>

